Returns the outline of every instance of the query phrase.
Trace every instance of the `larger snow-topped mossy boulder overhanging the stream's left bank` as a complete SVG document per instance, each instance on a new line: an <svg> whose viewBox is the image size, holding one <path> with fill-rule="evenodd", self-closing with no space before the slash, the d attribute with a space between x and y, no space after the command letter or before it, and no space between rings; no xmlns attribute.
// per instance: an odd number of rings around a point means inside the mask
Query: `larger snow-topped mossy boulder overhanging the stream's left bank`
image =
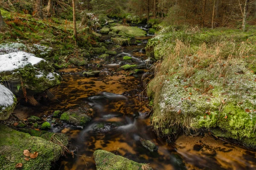
<svg viewBox="0 0 256 170"><path fill-rule="evenodd" d="M44 59L24 51L0 55L1 81L12 85L12 92L33 95L60 84L61 76Z"/></svg>

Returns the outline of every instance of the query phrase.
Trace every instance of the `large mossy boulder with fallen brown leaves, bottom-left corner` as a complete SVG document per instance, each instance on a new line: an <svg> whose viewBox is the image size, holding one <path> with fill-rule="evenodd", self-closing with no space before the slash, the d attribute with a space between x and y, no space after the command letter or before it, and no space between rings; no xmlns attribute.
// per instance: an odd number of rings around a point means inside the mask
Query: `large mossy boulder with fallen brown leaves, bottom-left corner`
<svg viewBox="0 0 256 170"><path fill-rule="evenodd" d="M25 161L23 150L27 149L31 153L38 152L38 157ZM50 170L51 163L59 159L61 152L58 144L0 124L0 167L3 169L16 170L15 165L22 163L24 170Z"/></svg>

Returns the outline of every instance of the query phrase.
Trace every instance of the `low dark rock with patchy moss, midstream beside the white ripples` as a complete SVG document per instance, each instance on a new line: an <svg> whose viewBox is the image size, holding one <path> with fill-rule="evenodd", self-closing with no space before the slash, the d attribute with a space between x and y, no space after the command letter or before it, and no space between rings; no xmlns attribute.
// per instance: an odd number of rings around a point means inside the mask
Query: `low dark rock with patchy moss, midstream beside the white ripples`
<svg viewBox="0 0 256 170"><path fill-rule="evenodd" d="M61 114L60 120L76 126L85 126L91 120L91 118L87 114L88 110L84 110L81 108L70 109Z"/></svg>

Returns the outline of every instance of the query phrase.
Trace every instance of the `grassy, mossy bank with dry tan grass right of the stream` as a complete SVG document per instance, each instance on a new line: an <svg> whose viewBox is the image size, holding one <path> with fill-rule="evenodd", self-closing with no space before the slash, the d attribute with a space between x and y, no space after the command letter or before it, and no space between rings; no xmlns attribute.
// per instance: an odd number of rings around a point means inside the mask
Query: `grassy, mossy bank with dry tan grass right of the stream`
<svg viewBox="0 0 256 170"><path fill-rule="evenodd" d="M251 30L165 28L148 42L147 54L161 59L148 84L151 116L160 135L189 129L219 128L222 136L256 147L254 71L256 38ZM217 135L217 134L216 134Z"/></svg>

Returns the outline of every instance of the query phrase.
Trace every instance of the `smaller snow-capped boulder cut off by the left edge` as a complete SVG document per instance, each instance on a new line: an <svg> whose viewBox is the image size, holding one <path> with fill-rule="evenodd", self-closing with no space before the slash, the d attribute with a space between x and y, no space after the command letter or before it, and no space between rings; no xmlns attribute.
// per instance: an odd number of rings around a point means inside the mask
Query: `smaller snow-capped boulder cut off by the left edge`
<svg viewBox="0 0 256 170"><path fill-rule="evenodd" d="M0 120L8 119L16 106L17 99L5 86L0 84Z"/></svg>

